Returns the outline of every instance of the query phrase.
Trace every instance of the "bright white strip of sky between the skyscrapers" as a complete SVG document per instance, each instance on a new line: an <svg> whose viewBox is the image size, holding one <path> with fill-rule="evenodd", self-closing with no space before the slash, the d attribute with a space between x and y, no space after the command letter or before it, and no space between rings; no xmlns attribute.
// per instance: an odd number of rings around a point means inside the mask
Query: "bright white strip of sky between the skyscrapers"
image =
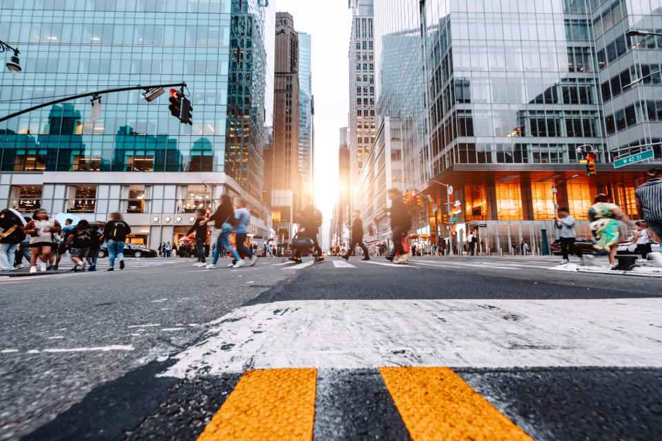
<svg viewBox="0 0 662 441"><path fill-rule="evenodd" d="M348 48L352 11L347 0L272 0L275 12L290 12L294 28L312 40L315 96L315 194L324 218L319 238L328 247L328 227L338 201L339 130L348 121Z"/></svg>

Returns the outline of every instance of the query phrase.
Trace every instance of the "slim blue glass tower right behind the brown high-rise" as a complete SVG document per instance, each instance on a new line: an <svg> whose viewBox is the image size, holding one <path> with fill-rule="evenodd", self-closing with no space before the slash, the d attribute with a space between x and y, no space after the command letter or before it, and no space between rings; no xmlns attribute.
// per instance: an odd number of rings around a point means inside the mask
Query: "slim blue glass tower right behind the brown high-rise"
<svg viewBox="0 0 662 441"><path fill-rule="evenodd" d="M299 171L303 198L312 202L314 181L314 101L310 34L299 32Z"/></svg>

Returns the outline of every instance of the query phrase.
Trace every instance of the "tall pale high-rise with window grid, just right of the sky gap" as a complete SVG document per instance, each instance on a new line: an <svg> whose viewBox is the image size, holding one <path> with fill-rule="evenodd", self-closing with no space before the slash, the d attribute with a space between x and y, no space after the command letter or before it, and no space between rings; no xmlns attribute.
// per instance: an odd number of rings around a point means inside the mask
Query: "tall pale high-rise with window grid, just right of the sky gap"
<svg viewBox="0 0 662 441"><path fill-rule="evenodd" d="M350 185L356 185L375 136L373 0L350 0Z"/></svg>

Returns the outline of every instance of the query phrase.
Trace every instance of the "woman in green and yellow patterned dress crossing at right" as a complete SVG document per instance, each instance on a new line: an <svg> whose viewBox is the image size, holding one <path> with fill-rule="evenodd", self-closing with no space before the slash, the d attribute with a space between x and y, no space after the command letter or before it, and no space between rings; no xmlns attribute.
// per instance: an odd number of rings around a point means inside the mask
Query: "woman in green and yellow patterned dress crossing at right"
<svg viewBox="0 0 662 441"><path fill-rule="evenodd" d="M601 256L608 254L611 269L616 269L616 252L620 237L619 220L634 227L634 222L625 216L618 205L612 204L611 199L602 193L596 196L595 203L588 210L588 220L591 221L591 232L596 242L593 248Z"/></svg>

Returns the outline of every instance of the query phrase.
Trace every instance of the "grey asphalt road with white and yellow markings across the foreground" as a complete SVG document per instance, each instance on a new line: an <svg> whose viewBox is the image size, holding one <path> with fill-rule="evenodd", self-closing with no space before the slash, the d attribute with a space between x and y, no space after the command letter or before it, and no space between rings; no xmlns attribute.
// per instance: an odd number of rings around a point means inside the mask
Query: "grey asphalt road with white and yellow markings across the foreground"
<svg viewBox="0 0 662 441"><path fill-rule="evenodd" d="M556 260L202 270L157 258L0 278L0 439L193 440L214 427L232 439L254 429L242 406L274 402L294 416L263 418L303 425L274 423L272 438L416 440L430 424L450 436L466 413L443 413L463 395L439 389L440 375L478 392L456 403L475 414L461 438L494 420L536 440L661 439L659 278L556 271ZM409 399L412 384L438 400ZM222 424L205 431L212 418Z"/></svg>

